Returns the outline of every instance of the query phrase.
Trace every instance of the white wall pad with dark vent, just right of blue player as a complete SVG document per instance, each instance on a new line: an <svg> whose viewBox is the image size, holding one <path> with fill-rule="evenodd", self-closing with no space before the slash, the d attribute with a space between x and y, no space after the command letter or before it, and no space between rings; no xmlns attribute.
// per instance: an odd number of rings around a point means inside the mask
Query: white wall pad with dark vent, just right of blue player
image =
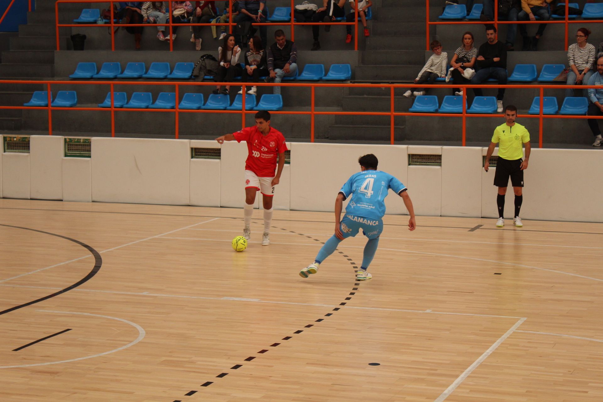
<svg viewBox="0 0 603 402"><path fill-rule="evenodd" d="M441 146L408 146L408 154L441 155ZM408 163L408 158L406 159ZM440 216L442 194L441 166L408 166L408 195L415 215Z"/></svg>

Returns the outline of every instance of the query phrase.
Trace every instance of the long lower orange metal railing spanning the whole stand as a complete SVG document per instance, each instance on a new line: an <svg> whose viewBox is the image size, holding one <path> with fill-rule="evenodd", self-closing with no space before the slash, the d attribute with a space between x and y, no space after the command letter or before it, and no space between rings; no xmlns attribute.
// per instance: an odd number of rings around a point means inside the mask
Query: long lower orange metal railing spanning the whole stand
<svg viewBox="0 0 603 402"><path fill-rule="evenodd" d="M460 85L463 90L463 111L462 113L411 113L411 112L397 112L394 111L395 105L395 97L394 97L394 89L396 88L404 88L410 89L412 87L416 87L416 84L382 84L379 86L375 86L374 84L317 84L317 83L214 83L214 82L177 82L177 83L166 83L164 81L148 81L144 83L140 83L137 81L22 81L22 80L0 80L0 84L45 84L46 90L48 91L48 106L40 106L40 107L26 107L26 106L0 106L1 109L16 109L16 110L48 110L48 134L52 135L52 111L53 110L95 110L95 111L106 111L111 114L111 136L115 137L115 112L128 112L128 111L148 111L150 113L174 113L175 114L175 138L177 139L179 136L179 122L178 115L179 113L229 113L232 115L241 115L241 127L245 127L245 115L253 115L256 113L255 111L245 110L245 96L242 97L242 110L183 110L178 107L179 99L179 90L180 87L190 87L190 86L215 86L215 85L241 85L243 87L243 93L245 93L245 89L248 86L284 86L284 87L305 87L311 88L311 108L309 111L271 111L274 115L309 115L310 116L310 140L314 142L314 121L315 116L317 115L355 115L355 116L390 116L390 143L394 144L394 119L396 116L422 116L422 117L456 117L463 119L463 130L462 130L462 143L463 146L466 146L467 142L467 117L469 118L497 118L501 119L502 115L499 114L467 114L466 110L466 101L467 101L467 89L469 88L493 88L491 85ZM75 85L109 85L111 92L111 107L103 108L103 107L53 107L51 105L51 89L52 85L60 85L60 84L75 84ZM114 89L113 86L115 84L118 85L132 85L132 86L141 86L141 85L173 85L175 86L175 108L174 109L142 109L142 108L116 108L114 107ZM389 88L390 89L390 111L317 111L315 109L315 88ZM434 84L429 86L430 88L450 88L449 85L446 84ZM543 120L544 119L603 119L603 116L582 116L582 115L545 115L543 114L543 97L545 89L587 89L587 88L596 88L595 86L582 86L582 85L501 85L496 86L497 88L516 88L516 89L539 89L540 90L540 113L538 115L518 115L518 118L528 118L528 119L538 119L538 147L542 148L543 144Z"/></svg>

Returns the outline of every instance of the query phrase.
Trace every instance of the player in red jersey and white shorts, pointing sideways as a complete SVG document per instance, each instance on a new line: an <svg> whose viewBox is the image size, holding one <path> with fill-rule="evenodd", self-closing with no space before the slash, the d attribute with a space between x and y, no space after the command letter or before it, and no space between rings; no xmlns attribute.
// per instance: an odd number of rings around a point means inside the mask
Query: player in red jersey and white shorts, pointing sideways
<svg viewBox="0 0 603 402"><path fill-rule="evenodd" d="M245 161L245 207L243 236L251 238L251 216L253 204L256 201L256 192L262 193L264 204L264 235L262 245L270 244L270 224L272 222L272 200L274 186L279 184L280 174L285 166L285 137L279 130L270 127L270 112L260 110L256 113L256 125L246 127L233 134L226 134L216 138L219 143L224 141L247 142L249 154ZM276 157L279 157L277 165ZM276 171L276 174L275 174Z"/></svg>

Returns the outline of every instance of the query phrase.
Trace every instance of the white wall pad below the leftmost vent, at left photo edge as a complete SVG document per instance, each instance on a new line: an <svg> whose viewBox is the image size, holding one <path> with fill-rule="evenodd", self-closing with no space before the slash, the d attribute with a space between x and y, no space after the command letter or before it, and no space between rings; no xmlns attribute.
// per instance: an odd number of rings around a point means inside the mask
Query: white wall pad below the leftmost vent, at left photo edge
<svg viewBox="0 0 603 402"><path fill-rule="evenodd" d="M2 196L30 198L30 154L19 152L2 154Z"/></svg>

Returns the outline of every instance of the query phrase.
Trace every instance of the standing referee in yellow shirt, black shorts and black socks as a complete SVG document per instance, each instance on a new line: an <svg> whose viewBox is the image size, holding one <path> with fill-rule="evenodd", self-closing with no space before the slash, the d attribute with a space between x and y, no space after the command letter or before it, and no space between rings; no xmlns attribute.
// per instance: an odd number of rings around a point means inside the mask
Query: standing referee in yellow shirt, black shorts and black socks
<svg viewBox="0 0 603 402"><path fill-rule="evenodd" d="M487 172L490 166L490 157L494 152L496 143L499 143L498 162L496 162L496 173L494 173L494 186L498 187L498 195L496 196L496 205L498 206L498 221L496 227L504 227L505 218L505 194L509 177L513 185L515 193L515 213L513 215L513 224L517 227L522 227L522 219L519 218L519 210L522 207L523 195L523 171L528 169L528 159L531 146L529 144L529 133L521 124L517 124L517 108L513 105L508 105L505 108L505 119L507 122L501 124L494 129L492 142L488 146L488 153L484 163L484 169ZM522 144L526 146L526 157L523 159Z"/></svg>

